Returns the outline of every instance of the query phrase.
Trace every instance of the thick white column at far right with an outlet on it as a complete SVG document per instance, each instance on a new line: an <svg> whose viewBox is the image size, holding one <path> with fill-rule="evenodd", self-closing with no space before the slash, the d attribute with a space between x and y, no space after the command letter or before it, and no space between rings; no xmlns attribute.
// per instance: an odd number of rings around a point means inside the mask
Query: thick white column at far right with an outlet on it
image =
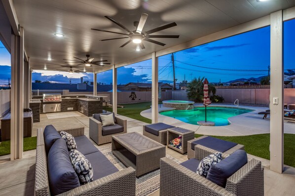
<svg viewBox="0 0 295 196"><path fill-rule="evenodd" d="M284 164L283 11L270 14L270 169Z"/></svg>

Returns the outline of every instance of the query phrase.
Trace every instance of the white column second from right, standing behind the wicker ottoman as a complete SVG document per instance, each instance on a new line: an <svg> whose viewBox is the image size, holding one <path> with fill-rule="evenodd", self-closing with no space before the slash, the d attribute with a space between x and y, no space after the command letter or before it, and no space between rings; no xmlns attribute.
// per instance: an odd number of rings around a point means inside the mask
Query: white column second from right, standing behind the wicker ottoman
<svg viewBox="0 0 295 196"><path fill-rule="evenodd" d="M158 122L158 57L151 54L151 123Z"/></svg>

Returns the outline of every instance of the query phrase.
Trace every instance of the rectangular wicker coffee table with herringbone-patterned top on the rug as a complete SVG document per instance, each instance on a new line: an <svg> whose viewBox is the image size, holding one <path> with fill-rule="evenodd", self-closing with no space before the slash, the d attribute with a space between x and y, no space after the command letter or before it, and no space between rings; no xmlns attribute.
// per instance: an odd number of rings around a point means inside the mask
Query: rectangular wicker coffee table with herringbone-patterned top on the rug
<svg viewBox="0 0 295 196"><path fill-rule="evenodd" d="M112 136L111 152L126 167L135 168L138 177L160 168L166 147L139 133L126 133Z"/></svg>

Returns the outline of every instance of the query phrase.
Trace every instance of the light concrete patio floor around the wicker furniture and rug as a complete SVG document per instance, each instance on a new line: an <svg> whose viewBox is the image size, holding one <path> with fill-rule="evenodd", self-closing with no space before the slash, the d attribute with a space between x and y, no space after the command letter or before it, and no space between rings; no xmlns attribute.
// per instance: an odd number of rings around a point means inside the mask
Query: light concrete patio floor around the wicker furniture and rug
<svg viewBox="0 0 295 196"><path fill-rule="evenodd" d="M77 114L80 113L77 112ZM128 132L142 134L143 125L147 123L126 116L121 117L127 119ZM37 128L44 128L48 124L53 124L57 129L83 126L85 127L85 135L89 136L89 117L82 114L80 116L57 119L48 119L46 114L41 114L40 118L41 121L39 123L34 123L34 135L37 133ZM166 148L166 153L182 162L187 160L186 154L182 155L172 149ZM269 160L250 154L248 154L248 158L255 158L262 162L264 167L265 196L294 196L295 168L285 166L284 173L279 174L269 170ZM35 159L36 150L26 151L24 152L23 159L14 161L9 161L9 155L0 157L0 196L34 195ZM159 196L159 190L150 196Z"/></svg>

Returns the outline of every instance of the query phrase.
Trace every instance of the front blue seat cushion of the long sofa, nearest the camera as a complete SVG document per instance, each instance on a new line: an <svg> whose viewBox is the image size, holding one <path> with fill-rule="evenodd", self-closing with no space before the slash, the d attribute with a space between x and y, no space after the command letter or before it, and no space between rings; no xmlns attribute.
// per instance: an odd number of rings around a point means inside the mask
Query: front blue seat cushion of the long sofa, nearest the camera
<svg viewBox="0 0 295 196"><path fill-rule="evenodd" d="M93 168L93 180L100 179L118 171L111 161L100 151L85 155Z"/></svg>

